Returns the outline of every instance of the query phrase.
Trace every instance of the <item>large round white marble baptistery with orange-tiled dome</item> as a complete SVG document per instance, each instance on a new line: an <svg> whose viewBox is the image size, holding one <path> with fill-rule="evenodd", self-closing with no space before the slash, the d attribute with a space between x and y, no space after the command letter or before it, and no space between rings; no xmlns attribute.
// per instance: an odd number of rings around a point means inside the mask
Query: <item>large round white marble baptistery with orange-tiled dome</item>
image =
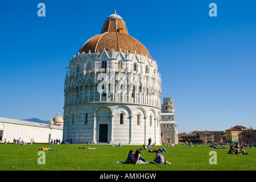
<svg viewBox="0 0 256 182"><path fill-rule="evenodd" d="M63 140L161 144L157 62L115 11L69 62Z"/></svg>

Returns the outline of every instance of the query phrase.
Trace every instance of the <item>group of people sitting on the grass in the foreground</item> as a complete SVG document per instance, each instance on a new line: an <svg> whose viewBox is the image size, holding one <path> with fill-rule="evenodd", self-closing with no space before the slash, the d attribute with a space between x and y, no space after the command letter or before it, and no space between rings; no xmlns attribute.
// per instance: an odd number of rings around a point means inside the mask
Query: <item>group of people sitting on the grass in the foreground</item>
<svg viewBox="0 0 256 182"><path fill-rule="evenodd" d="M162 150L163 151L163 150ZM155 149L153 152L155 152L156 156L153 161L150 163L152 164L171 164L165 158L163 158L163 155L161 153L161 150ZM123 164L145 164L148 163L142 156L141 156L141 149L136 150L134 153L133 150L129 151L129 154L127 156L127 159L125 162L119 162Z"/></svg>

